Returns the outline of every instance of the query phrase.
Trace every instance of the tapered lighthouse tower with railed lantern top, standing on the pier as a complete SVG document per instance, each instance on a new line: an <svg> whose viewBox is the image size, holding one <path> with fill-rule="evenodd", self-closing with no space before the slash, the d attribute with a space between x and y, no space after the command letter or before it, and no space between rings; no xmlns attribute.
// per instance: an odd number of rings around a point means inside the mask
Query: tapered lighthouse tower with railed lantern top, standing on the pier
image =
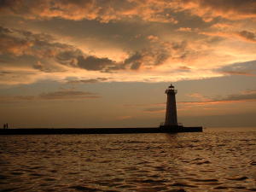
<svg viewBox="0 0 256 192"><path fill-rule="evenodd" d="M166 90L167 102L165 126L177 126L176 94L177 90L174 90L174 86L171 84Z"/></svg>

